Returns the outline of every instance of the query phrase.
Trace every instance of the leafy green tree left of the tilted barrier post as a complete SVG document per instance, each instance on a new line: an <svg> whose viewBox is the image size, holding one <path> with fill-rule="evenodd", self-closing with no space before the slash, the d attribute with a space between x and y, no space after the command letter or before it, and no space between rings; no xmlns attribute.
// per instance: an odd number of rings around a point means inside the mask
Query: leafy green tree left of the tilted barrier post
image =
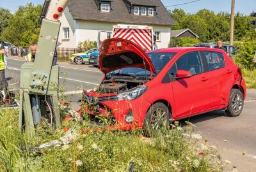
<svg viewBox="0 0 256 172"><path fill-rule="evenodd" d="M31 42L38 41L40 25L38 20L42 6L32 3L20 6L14 15L11 15L8 26L3 29L1 39L14 45L28 46Z"/></svg>

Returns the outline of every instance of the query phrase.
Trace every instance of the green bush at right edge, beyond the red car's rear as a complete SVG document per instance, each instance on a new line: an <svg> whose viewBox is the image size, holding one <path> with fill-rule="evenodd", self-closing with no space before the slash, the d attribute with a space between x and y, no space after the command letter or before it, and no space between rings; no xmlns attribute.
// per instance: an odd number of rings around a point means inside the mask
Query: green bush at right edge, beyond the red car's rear
<svg viewBox="0 0 256 172"><path fill-rule="evenodd" d="M256 63L253 62L253 57L256 52L256 39L246 40L243 43L236 43L239 51L233 57L234 62L241 68L256 69Z"/></svg>

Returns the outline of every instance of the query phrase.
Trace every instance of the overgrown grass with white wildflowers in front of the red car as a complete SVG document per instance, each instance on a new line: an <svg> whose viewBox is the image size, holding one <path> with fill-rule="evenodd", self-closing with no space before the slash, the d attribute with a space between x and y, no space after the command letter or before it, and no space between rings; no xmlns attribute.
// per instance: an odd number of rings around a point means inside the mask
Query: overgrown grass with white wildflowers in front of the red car
<svg viewBox="0 0 256 172"><path fill-rule="evenodd" d="M55 145L29 153L20 145L40 145L65 135L62 129L36 129L29 140L18 129L18 110L0 110L1 171L222 171L225 166L216 147L200 141L193 125L173 125L156 138L144 138L141 131L79 133L68 145ZM85 125L85 124L83 124ZM178 124L176 124L178 125ZM200 142L198 142L200 141ZM202 144L202 145L201 145ZM200 154L199 154L200 153Z"/></svg>

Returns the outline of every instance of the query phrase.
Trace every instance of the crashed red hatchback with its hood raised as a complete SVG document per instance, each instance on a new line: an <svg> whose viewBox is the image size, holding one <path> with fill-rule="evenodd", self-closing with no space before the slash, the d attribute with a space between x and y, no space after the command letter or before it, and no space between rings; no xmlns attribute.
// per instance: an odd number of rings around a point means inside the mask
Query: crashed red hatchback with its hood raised
<svg viewBox="0 0 256 172"><path fill-rule="evenodd" d="M223 50L146 53L131 41L113 38L102 43L99 68L105 76L98 89L84 90L81 111L112 118L115 124L108 129L156 131L208 111L225 110L236 117L243 110L246 85Z"/></svg>

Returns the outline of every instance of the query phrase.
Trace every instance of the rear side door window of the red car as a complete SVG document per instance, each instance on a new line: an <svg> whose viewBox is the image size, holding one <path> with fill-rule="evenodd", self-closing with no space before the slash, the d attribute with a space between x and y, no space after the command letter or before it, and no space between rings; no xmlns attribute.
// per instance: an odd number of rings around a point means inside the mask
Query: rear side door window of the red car
<svg viewBox="0 0 256 172"><path fill-rule="evenodd" d="M207 59L209 71L225 67L224 55L220 52L204 51L205 57Z"/></svg>

